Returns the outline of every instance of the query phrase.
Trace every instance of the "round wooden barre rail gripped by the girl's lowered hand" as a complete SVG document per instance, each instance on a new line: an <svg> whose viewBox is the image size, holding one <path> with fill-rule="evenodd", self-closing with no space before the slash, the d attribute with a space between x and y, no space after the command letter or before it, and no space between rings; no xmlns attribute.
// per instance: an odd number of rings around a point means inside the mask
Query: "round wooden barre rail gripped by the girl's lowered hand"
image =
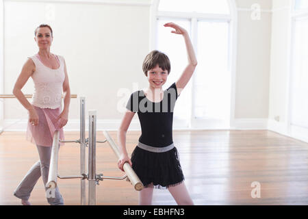
<svg viewBox="0 0 308 219"><path fill-rule="evenodd" d="M112 151L114 151L114 153L116 154L116 157L118 157L118 159L119 159L120 158L120 151L118 149L118 146L116 145L116 143L114 143L114 140L112 140L112 138L110 137L109 133L107 133L107 131L103 131L103 134L104 134L107 142L110 144ZM124 169L127 177L129 178L129 180L131 181L131 184L133 184L133 187L135 188L135 190L137 190L137 191L142 190L143 184L140 181L139 177L136 175L136 172L133 171L133 168L131 168L129 163L126 162L123 165L123 169Z"/></svg>

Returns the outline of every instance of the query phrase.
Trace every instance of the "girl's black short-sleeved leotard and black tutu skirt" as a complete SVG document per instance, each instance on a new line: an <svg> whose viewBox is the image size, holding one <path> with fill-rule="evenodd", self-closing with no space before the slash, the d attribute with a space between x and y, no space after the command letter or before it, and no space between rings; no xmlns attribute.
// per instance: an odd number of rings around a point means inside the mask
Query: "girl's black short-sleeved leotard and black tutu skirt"
<svg viewBox="0 0 308 219"><path fill-rule="evenodd" d="M138 113L142 130L139 142L161 149L173 144L172 121L176 101L175 83L164 90L164 97L159 103L149 101L142 90L131 94L126 107L131 112ZM131 162L144 187L165 189L184 180L176 147L170 151L155 153L136 146Z"/></svg>

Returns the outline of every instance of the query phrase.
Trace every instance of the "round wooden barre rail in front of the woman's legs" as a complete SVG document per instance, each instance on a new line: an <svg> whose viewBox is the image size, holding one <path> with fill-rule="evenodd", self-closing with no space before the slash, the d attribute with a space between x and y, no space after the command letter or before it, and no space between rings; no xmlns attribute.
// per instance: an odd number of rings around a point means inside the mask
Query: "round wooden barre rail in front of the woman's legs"
<svg viewBox="0 0 308 219"><path fill-rule="evenodd" d="M52 189L57 187L57 160L59 156L59 138L60 132L57 130L53 134L53 148L51 149L49 174L47 183L45 185L47 188Z"/></svg>

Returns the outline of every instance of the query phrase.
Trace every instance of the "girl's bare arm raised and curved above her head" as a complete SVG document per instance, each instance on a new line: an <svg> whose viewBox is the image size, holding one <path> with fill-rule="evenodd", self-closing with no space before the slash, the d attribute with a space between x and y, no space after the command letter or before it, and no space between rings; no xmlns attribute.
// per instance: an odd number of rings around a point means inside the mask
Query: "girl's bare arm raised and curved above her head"
<svg viewBox="0 0 308 219"><path fill-rule="evenodd" d="M177 93L179 95L183 90L183 88L185 88L185 86L187 85L188 81L190 81L190 78L194 73L194 70L197 65L196 55L194 54L194 47L192 47L192 42L190 41L188 32L183 27L180 27L175 23L166 23L164 26L174 28L175 30L172 30L171 33L181 34L183 36L185 40L186 51L188 53L188 66L186 66L181 77L179 77L179 79L176 82Z"/></svg>

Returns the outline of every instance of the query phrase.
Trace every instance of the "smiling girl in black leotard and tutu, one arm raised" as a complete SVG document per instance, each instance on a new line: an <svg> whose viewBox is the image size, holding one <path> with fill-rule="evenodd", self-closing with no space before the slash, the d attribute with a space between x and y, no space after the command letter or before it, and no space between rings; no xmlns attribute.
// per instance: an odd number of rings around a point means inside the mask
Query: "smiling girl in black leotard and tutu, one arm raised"
<svg viewBox="0 0 308 219"><path fill-rule="evenodd" d="M172 119L175 101L181 90L192 77L196 68L196 56L188 32L175 23L173 34L181 34L188 52L188 66L181 77L167 90L162 90L170 73L170 61L164 53L152 51L143 63L143 71L149 81L149 88L133 92L127 103L127 112L118 130L121 157L118 168L129 162L142 181L144 189L139 193L139 205L151 205L153 188L168 188L178 205L193 205L183 182L179 155L172 141ZM138 112L142 134L131 159L125 147L126 133L135 113Z"/></svg>

